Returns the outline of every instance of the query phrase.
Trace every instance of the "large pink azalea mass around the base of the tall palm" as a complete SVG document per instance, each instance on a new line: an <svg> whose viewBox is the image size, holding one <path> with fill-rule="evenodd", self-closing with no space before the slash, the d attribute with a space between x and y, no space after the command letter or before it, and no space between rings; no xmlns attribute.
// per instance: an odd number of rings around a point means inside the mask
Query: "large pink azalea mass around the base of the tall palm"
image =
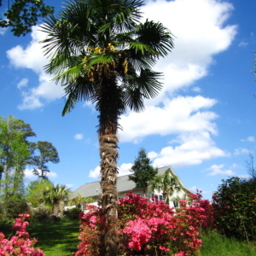
<svg viewBox="0 0 256 256"><path fill-rule="evenodd" d="M212 208L199 193L189 198L191 205L181 201L176 212L162 201L148 202L132 193L119 199L119 255L198 255L199 230L212 225ZM87 211L80 216L81 242L76 256L99 254L101 209L88 206Z"/></svg>

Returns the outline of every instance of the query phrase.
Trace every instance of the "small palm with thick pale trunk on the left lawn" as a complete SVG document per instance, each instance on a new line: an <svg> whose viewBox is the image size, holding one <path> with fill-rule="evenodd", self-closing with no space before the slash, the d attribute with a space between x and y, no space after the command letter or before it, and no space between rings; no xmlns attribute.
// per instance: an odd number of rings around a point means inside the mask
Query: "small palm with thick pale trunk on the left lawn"
<svg viewBox="0 0 256 256"><path fill-rule="evenodd" d="M70 189L66 185L51 184L44 189L44 201L52 206L52 214L62 217L65 207L65 200L70 195Z"/></svg>

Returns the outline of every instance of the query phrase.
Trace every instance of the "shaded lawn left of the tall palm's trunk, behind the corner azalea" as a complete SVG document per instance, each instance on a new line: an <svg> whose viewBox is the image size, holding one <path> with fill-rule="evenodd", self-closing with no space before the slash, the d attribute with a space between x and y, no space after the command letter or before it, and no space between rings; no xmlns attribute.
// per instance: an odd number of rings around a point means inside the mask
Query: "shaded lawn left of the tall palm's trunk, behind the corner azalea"
<svg viewBox="0 0 256 256"><path fill-rule="evenodd" d="M79 244L80 222L55 222L30 224L27 228L31 237L38 239L35 247L44 251L46 256L70 256ZM11 225L1 224L0 231L5 236L13 236Z"/></svg>

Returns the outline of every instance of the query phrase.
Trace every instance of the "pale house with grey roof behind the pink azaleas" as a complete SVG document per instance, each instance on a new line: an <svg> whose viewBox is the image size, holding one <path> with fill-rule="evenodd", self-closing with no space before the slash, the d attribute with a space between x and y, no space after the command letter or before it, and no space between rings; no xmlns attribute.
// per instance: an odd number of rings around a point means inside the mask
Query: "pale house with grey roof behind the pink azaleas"
<svg viewBox="0 0 256 256"><path fill-rule="evenodd" d="M170 207L178 207L179 199L185 199L186 195L194 194L190 189L186 188L180 178L177 176L176 172L173 171L171 166L166 166L158 169L158 175L162 175L165 172L169 172L172 177L177 177L177 183L179 190L175 190L172 196L169 198ZM119 193L119 198L125 197L125 194L132 191L137 195L144 195L144 188L137 188L136 183L129 180L129 175L120 176L117 180L117 190ZM99 181L93 183L85 183L79 189L73 191L71 198L81 194L83 197L92 197L95 201L98 201L99 195L101 195L102 189ZM163 195L161 191L154 191L151 193L148 188L146 188L146 196L151 199L154 195L154 200L163 200Z"/></svg>

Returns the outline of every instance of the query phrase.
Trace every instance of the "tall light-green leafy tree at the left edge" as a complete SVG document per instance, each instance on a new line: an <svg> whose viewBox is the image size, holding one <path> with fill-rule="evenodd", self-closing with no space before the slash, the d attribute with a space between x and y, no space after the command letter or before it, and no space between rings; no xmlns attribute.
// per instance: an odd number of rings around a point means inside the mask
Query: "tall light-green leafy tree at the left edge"
<svg viewBox="0 0 256 256"><path fill-rule="evenodd" d="M15 217L25 205L24 169L31 156L27 137L35 136L30 125L13 116L0 117L0 160L3 166L1 202L3 218Z"/></svg>

